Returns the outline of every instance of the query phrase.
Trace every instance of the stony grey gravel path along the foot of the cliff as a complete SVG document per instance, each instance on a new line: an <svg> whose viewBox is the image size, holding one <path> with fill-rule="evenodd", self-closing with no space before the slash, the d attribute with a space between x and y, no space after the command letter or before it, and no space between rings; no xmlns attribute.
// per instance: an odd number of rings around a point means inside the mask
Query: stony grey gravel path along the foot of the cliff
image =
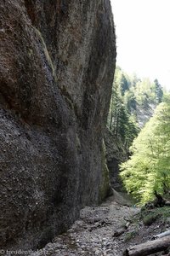
<svg viewBox="0 0 170 256"><path fill-rule="evenodd" d="M124 241L121 236L114 237L114 232L137 212L139 209L121 206L111 199L99 207L85 207L71 230L55 237L43 250L46 255L56 256L121 256Z"/></svg>

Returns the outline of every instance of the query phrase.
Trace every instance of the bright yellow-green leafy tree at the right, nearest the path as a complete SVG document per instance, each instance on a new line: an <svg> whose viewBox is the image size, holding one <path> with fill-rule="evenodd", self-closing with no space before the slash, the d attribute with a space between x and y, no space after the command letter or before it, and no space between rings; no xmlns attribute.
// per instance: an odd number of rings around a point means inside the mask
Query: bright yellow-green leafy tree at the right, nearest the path
<svg viewBox="0 0 170 256"><path fill-rule="evenodd" d="M170 101L162 102L154 116L134 139L132 156L121 165L128 193L141 204L170 189Z"/></svg>

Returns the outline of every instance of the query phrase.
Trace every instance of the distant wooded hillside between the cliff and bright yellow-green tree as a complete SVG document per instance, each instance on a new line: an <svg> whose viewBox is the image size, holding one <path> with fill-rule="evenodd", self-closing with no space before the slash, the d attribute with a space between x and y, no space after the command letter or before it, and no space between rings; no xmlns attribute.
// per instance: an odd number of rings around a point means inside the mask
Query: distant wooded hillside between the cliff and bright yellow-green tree
<svg viewBox="0 0 170 256"><path fill-rule="evenodd" d="M152 113L152 108L156 108L161 99L162 90L157 79L152 83L150 79L129 76L121 67L116 67L108 126L116 137L122 139L124 146L128 148L139 133L139 115L147 115L149 108Z"/></svg>

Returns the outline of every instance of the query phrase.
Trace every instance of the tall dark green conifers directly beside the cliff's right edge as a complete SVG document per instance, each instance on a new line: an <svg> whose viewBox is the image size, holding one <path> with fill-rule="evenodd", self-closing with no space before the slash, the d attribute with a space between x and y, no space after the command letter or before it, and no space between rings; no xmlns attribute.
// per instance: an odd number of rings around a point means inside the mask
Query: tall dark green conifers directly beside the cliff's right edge
<svg viewBox="0 0 170 256"><path fill-rule="evenodd" d="M122 72L120 67L116 67L114 84L111 94L111 106L108 116L108 126L110 130L122 139L122 143L128 148L137 136L139 129L135 118L130 115L129 99L127 92L131 86L130 78ZM127 99L127 101L125 100ZM129 108L127 108L127 105Z"/></svg>

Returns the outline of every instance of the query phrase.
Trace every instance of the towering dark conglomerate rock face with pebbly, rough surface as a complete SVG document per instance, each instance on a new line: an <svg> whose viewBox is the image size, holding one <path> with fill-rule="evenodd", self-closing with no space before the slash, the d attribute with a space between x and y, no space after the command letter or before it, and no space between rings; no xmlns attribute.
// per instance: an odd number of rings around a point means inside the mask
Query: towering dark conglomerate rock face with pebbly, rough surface
<svg viewBox="0 0 170 256"><path fill-rule="evenodd" d="M99 201L109 0L0 2L0 247L42 247Z"/></svg>

